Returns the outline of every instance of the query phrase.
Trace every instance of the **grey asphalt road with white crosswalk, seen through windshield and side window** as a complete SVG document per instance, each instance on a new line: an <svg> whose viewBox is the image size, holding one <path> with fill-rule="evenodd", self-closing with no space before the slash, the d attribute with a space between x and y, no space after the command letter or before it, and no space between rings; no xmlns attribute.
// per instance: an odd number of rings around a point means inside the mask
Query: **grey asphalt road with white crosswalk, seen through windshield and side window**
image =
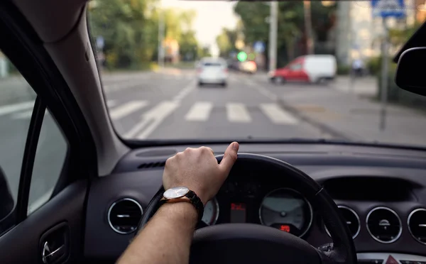
<svg viewBox="0 0 426 264"><path fill-rule="evenodd" d="M300 87L277 87L268 83L266 75L231 73L227 87L197 87L193 70L106 74L102 82L114 127L124 138L329 137L278 104L277 94L283 94L283 89L290 96L292 89ZM17 81L0 82L0 94L10 87L15 91L13 98L0 104L0 166L16 198L34 94L25 82ZM16 93L19 87L21 97ZM46 114L31 184L32 209L49 198L64 158L65 141Z"/></svg>

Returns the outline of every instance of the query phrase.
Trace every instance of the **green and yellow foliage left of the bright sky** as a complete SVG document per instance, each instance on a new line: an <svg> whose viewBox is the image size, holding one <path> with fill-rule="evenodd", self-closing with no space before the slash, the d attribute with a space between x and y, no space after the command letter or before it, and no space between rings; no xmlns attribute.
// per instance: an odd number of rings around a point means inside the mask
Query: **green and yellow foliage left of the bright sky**
<svg viewBox="0 0 426 264"><path fill-rule="evenodd" d="M105 66L109 70L151 68L158 55L158 22L165 21L165 39L177 40L180 54L195 59L198 43L192 31L194 11L161 10L159 0L95 0L89 5L94 38L104 38Z"/></svg>

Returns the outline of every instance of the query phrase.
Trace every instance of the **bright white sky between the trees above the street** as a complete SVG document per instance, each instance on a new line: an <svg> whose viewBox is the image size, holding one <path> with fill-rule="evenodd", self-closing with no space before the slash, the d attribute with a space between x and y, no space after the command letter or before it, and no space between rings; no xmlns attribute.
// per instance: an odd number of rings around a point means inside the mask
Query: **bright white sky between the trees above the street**
<svg viewBox="0 0 426 264"><path fill-rule="evenodd" d="M222 28L235 28L238 21L234 14L236 1L162 0L167 8L193 9L197 12L193 29L202 45L210 45L212 54L218 53L216 37Z"/></svg>

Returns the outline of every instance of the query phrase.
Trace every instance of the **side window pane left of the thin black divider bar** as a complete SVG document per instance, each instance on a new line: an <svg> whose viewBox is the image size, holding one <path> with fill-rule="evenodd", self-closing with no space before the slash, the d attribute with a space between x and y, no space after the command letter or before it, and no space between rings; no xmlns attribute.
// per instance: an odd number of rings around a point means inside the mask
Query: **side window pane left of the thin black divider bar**
<svg viewBox="0 0 426 264"><path fill-rule="evenodd" d="M16 206L23 153L36 94L0 51L0 233Z"/></svg>

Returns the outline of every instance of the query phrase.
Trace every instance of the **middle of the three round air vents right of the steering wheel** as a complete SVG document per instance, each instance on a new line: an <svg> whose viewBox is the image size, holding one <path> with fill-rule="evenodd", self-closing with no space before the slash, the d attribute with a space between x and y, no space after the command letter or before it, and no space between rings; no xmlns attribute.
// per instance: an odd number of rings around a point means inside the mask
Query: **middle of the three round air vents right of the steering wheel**
<svg viewBox="0 0 426 264"><path fill-rule="evenodd" d="M395 211L388 207L376 207L367 215L367 230L376 241L393 243L400 237L403 225Z"/></svg>

